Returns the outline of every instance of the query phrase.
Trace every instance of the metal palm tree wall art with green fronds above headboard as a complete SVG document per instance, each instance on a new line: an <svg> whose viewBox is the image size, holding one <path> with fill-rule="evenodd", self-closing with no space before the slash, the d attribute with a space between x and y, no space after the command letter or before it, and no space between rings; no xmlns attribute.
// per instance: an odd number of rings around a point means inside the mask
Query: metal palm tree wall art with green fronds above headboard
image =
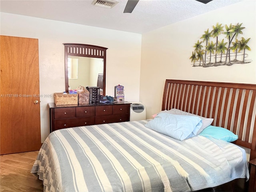
<svg viewBox="0 0 256 192"><path fill-rule="evenodd" d="M209 28L204 32L202 41L197 41L194 44L194 51L192 51L192 56L190 60L195 66L210 67L210 66L221 66L232 64L245 64L250 63L252 60L248 58L248 54L245 53L246 50L251 50L247 45L250 38L245 39L241 37L238 39L239 34L243 34L241 24L229 26L222 24L216 24L213 26L212 31L209 32ZM219 40L221 36L226 36L225 39ZM216 38L216 40L214 40ZM205 42L205 46L202 43ZM230 52L232 50L232 52Z"/></svg>

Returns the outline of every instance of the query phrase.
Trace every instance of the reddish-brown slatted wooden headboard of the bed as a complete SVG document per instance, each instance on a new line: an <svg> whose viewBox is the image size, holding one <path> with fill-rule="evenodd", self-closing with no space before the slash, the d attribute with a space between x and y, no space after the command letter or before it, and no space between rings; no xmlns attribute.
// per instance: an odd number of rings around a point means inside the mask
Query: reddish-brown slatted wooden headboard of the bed
<svg viewBox="0 0 256 192"><path fill-rule="evenodd" d="M162 110L172 108L214 118L212 125L237 134L234 143L256 158L256 84L167 79Z"/></svg>

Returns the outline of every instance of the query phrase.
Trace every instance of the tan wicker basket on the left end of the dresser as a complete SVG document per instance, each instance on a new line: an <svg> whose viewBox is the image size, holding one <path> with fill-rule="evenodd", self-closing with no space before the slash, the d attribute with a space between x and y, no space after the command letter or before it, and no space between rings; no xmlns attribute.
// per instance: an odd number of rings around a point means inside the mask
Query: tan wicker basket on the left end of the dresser
<svg viewBox="0 0 256 192"><path fill-rule="evenodd" d="M54 93L54 103L56 105L78 104L78 94Z"/></svg>

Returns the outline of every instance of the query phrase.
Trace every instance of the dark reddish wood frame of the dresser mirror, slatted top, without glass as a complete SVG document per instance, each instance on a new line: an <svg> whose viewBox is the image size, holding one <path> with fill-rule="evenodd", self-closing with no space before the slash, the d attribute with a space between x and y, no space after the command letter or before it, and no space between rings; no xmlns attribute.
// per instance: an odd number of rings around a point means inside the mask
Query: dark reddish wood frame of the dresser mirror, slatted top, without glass
<svg viewBox="0 0 256 192"><path fill-rule="evenodd" d="M88 44L63 43L65 50L65 91L68 92L68 56L103 58L103 95L106 95L106 47Z"/></svg>

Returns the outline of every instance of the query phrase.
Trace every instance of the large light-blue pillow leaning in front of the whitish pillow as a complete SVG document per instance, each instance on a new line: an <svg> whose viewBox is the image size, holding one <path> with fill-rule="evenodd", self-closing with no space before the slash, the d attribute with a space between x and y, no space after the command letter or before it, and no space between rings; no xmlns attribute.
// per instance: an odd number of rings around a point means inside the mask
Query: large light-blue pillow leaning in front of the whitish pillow
<svg viewBox="0 0 256 192"><path fill-rule="evenodd" d="M196 132L202 126L202 119L197 116L159 113L154 119L147 122L145 126L182 141L196 135Z"/></svg>

